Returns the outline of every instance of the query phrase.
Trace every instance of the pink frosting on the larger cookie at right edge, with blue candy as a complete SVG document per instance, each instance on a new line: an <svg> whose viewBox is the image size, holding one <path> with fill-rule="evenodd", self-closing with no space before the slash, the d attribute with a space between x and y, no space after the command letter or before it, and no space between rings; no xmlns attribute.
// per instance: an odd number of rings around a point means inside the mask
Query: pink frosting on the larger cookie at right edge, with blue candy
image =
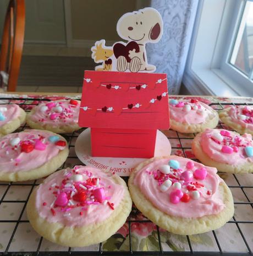
<svg viewBox="0 0 253 256"><path fill-rule="evenodd" d="M248 157L245 153L246 146L253 146L252 136L240 136L232 131L226 131L229 136L224 136L224 131L226 130L206 129L202 132L200 145L208 157L220 163L233 165L252 163L253 157ZM222 136L223 140L218 141L217 136Z"/></svg>

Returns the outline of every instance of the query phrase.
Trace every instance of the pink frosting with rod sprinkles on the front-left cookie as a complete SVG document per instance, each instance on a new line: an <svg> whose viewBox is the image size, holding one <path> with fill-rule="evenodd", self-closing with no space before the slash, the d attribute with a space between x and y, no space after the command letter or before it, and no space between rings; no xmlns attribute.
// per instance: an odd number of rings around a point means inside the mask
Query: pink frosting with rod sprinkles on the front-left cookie
<svg viewBox="0 0 253 256"><path fill-rule="evenodd" d="M79 178L81 175L81 181L75 180L76 174ZM111 176L89 166L53 173L37 190L36 210L47 221L65 226L85 226L106 220L124 196L124 187L114 183Z"/></svg>

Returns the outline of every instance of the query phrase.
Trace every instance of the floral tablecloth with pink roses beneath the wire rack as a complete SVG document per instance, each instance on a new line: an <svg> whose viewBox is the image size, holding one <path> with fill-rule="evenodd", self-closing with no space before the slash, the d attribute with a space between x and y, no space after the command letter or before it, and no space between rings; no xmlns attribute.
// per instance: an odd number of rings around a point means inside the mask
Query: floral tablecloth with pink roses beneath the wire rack
<svg viewBox="0 0 253 256"><path fill-rule="evenodd" d="M26 109L31 109L32 105L37 104L38 98L47 98L51 100L63 99L64 97L58 96L40 96L40 95L10 95L0 94L0 98L5 97L19 97L19 98L33 98L32 100L26 100ZM81 95L66 95L68 98L79 99ZM173 96L171 98L178 98ZM188 97L184 97L188 98ZM192 97L190 97L192 98ZM202 102L210 103L253 103L253 98L217 98L217 97L197 97ZM23 103L24 100L17 100L17 103ZM5 100L1 99L0 103L4 103ZM184 153L189 158L195 158L193 152L191 152L191 138L194 138L193 134L177 134L173 130L163 131L167 137L170 138L172 145L172 154L178 156L184 156ZM190 138L190 140L189 140ZM182 145L182 146L181 146ZM186 148L183 152L183 148ZM71 166L78 163L68 163L67 166ZM253 175L233 175L233 174L220 174L226 181L232 190L235 204L235 214L232 218L232 222L227 223L223 227L213 232L207 232L204 234L194 236L179 236L169 233L167 231L158 228L152 222L148 222L147 218L143 216L135 207L129 216L129 221L120 228L120 230L114 234L107 241L103 242L103 251L129 251L129 227L131 228L131 249L133 251L160 251L164 252L190 252L189 241L194 252L219 252L216 238L221 246L223 252L249 252L246 243L249 248L253 249L253 209L249 202L253 201ZM38 181L40 182L40 181ZM234 187L233 187L234 186ZM240 188L239 186L246 186L246 188ZM247 187L248 186L248 187ZM250 187L251 186L251 187ZM0 198L4 194L4 186L0 186ZM1 220L17 220L24 202L29 194L29 188L27 186L11 186L8 193L4 196L3 200L20 200L20 205L12 204L11 202L2 202L0 205L0 252L5 251L5 248L9 242L10 236L15 227L15 222L1 222ZM244 204L245 203L245 204ZM14 208L15 207L15 208ZM20 208L20 209L19 209ZM27 220L26 213L24 211L21 220ZM141 221L141 222L139 222ZM239 223L235 223L239 221ZM243 223L243 222L246 223ZM247 223L250 222L250 223ZM158 239L158 232L160 233L161 247ZM241 235L243 234L243 236ZM246 240L246 243L244 241ZM189 239L189 241L188 241ZM40 243L40 236L32 229L29 222L19 223L17 231L14 234L13 241L10 244L9 252L32 252L36 251L38 244ZM69 248L58 246L51 243L46 239L42 240L40 251L68 251ZM98 251L99 244L84 248L71 248L73 251ZM240 255L240 254L239 254Z"/></svg>

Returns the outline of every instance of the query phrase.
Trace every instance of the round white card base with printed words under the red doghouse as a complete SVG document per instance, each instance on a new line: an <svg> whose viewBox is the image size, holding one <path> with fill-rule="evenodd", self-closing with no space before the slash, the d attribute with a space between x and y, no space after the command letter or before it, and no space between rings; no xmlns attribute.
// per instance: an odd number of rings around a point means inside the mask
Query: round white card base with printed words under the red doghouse
<svg viewBox="0 0 253 256"><path fill-rule="evenodd" d="M129 176L131 171L146 158L92 157L90 129L84 130L75 142L75 152L81 162L87 166L109 170L120 176ZM169 156L171 143L161 132L157 131L155 157Z"/></svg>

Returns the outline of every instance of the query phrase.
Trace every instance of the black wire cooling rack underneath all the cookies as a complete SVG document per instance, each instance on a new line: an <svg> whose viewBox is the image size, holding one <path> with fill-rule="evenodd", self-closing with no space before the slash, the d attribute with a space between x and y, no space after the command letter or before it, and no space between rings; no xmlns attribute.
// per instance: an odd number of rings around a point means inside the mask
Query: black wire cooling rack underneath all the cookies
<svg viewBox="0 0 253 256"><path fill-rule="evenodd" d="M0 98L0 104L16 103L30 111L32 106L49 101L44 98ZM212 103L219 111L234 103ZM250 104L249 104L250 105ZM228 129L219 122L217 128ZM24 124L18 129L29 129ZM70 154L59 169L81 164L74 143L81 129L64 134ZM195 134L163 131L172 144L172 154L194 159L191 141ZM179 236L162 230L133 207L127 222L106 242L84 248L61 247L40 237L30 226L25 207L32 190L42 179L32 182L0 182L0 254L2 255L253 255L253 175L222 174L234 196L235 214L219 230L194 236ZM127 182L126 177L124 177ZM151 232L152 231L152 232Z"/></svg>

